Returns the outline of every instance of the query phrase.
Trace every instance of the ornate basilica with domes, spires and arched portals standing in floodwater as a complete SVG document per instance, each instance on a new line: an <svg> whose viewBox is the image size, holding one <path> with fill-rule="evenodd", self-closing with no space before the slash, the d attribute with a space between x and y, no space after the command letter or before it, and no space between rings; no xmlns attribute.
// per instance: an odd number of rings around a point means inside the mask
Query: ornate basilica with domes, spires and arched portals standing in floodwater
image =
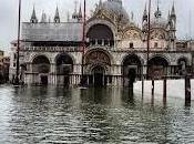
<svg viewBox="0 0 194 144"><path fill-rule="evenodd" d="M33 9L30 22L22 24L20 61L27 84L78 85L82 71L82 10L61 22L57 8L53 21L45 13L39 21ZM151 19L150 60L146 59L147 10L140 28L123 8L122 0L96 4L86 20L86 49L83 72L90 85L127 85L129 79L185 74L192 71L192 53L185 41L176 39L174 6L164 18L159 6ZM16 43L12 43L13 53ZM14 55L14 54L13 54ZM184 68L184 70L182 70ZM11 60L14 73L14 56Z"/></svg>

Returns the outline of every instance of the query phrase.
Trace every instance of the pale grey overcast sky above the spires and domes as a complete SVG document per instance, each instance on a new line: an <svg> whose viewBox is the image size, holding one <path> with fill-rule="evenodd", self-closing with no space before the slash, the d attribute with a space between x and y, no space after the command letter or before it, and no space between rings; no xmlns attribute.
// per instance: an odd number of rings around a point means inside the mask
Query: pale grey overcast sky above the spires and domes
<svg viewBox="0 0 194 144"><path fill-rule="evenodd" d="M10 42L17 39L18 25L18 1L19 0L0 0L0 50L9 51ZM83 0L78 0L83 4ZM105 1L105 0L103 0ZM134 20L141 24L142 13L145 2L149 0L123 0L123 6L130 14L134 12ZM160 8L163 17L167 18L169 10L171 10L173 1L177 13L177 37L181 39L194 38L194 0L160 0ZM94 4L99 0L86 0L88 16L94 9ZM67 13L74 10L74 0L22 0L22 22L29 21L33 4L35 6L37 16L40 19L42 11L48 17L53 19L57 6L60 10L62 21L67 21ZM157 0L152 0L152 11L156 9ZM131 14L130 14L131 16ZM190 30L190 28L192 28Z"/></svg>

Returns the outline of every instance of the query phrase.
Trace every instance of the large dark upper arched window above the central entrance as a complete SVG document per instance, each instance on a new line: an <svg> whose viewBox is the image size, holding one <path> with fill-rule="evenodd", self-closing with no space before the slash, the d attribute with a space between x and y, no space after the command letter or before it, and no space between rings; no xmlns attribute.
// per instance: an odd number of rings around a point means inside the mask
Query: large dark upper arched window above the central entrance
<svg viewBox="0 0 194 144"><path fill-rule="evenodd" d="M113 32L105 24L92 25L86 33L86 38L89 38L91 44L114 45Z"/></svg>

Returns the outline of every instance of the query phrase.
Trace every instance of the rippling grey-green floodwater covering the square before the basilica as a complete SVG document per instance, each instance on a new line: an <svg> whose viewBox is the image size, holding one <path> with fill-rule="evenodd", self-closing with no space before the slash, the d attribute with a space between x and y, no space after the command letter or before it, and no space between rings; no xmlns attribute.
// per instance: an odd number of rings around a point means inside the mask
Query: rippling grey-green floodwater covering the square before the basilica
<svg viewBox="0 0 194 144"><path fill-rule="evenodd" d="M0 144L192 144L194 106L126 89L0 86Z"/></svg>

